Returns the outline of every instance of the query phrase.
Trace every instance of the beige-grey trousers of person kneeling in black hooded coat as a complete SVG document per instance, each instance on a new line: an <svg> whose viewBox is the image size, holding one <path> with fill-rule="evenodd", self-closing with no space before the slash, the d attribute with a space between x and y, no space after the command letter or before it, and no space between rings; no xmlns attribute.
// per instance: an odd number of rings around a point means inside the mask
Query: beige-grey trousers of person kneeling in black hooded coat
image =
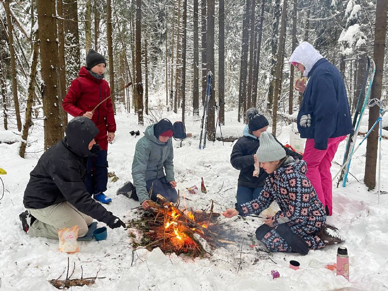
<svg viewBox="0 0 388 291"><path fill-rule="evenodd" d="M93 218L77 210L69 202L61 202L42 209L27 209L36 218L28 230L32 236L58 239L58 230L64 227L79 227L78 236L83 237Z"/></svg>

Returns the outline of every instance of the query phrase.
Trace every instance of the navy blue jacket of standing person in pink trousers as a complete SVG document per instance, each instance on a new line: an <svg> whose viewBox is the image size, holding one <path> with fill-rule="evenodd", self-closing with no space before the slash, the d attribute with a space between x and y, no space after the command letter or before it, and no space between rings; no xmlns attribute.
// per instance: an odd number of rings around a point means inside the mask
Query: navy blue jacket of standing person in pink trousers
<svg viewBox="0 0 388 291"><path fill-rule="evenodd" d="M298 130L302 138L313 138L316 149L326 149L328 138L347 135L352 119L345 84L339 70L325 58L313 65L298 113ZM301 127L302 115L311 114L311 126Z"/></svg>

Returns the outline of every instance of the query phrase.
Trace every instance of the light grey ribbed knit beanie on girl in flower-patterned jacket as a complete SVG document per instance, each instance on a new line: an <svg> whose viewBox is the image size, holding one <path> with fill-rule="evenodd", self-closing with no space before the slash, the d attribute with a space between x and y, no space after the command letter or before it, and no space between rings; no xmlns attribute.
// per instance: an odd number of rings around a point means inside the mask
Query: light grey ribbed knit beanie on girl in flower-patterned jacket
<svg viewBox="0 0 388 291"><path fill-rule="evenodd" d="M274 136L264 131L260 134L260 146L256 152L259 162L274 162L286 156L284 148L275 141Z"/></svg>

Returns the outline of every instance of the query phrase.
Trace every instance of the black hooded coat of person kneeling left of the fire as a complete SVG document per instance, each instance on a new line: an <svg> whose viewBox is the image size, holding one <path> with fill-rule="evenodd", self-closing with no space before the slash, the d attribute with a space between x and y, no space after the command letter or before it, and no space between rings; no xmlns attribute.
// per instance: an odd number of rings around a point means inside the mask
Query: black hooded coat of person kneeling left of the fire
<svg viewBox="0 0 388 291"><path fill-rule="evenodd" d="M88 145L98 133L92 121L75 118L66 128L66 137L50 147L30 173L23 204L27 209L42 209L68 201L82 213L108 223L113 215L86 191L86 160L93 153ZM70 123L75 123L72 126Z"/></svg>

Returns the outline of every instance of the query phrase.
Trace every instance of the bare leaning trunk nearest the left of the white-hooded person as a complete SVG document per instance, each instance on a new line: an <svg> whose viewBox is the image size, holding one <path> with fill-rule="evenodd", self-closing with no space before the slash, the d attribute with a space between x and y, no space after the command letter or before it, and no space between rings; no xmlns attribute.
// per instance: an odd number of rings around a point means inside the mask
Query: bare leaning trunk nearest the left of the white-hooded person
<svg viewBox="0 0 388 291"><path fill-rule="evenodd" d="M276 119L277 119L277 100L280 96L280 82L282 81L280 72L281 64L283 63L283 42L284 42L284 32L286 31L286 16L287 16L287 0L283 1L283 12L282 20L280 24L280 35L279 35L279 48L277 51L277 61L276 61L276 78L275 78L275 92L274 92L274 114L272 116L272 133L276 135Z"/></svg>

